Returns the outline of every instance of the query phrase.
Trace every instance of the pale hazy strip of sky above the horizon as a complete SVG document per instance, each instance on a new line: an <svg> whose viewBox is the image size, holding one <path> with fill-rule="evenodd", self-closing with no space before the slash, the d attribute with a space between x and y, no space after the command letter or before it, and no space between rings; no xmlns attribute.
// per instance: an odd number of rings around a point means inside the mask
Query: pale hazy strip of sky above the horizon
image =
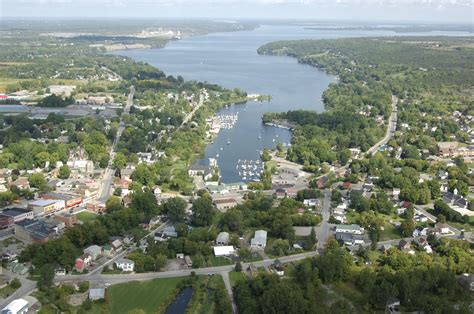
<svg viewBox="0 0 474 314"><path fill-rule="evenodd" d="M473 24L474 0L0 0L2 17L275 18Z"/></svg>

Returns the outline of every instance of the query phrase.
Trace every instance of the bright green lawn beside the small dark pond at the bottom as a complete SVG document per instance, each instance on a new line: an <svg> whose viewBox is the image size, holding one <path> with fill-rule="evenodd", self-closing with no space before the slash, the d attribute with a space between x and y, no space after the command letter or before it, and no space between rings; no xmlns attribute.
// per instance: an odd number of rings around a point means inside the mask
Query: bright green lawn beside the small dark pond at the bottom
<svg viewBox="0 0 474 314"><path fill-rule="evenodd" d="M128 313L133 309L156 313L182 280L183 278L163 278L111 286L107 289L111 313Z"/></svg>

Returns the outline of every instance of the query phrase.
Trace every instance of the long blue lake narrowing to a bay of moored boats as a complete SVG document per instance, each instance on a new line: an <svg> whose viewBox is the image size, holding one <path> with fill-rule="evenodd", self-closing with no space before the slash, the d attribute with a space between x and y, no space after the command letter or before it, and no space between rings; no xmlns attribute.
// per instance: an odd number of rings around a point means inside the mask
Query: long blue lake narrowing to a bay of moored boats
<svg viewBox="0 0 474 314"><path fill-rule="evenodd" d="M271 95L269 102L232 105L218 114L239 114L232 129L221 130L213 144L206 148L200 163L216 158L225 183L242 181L239 160L257 160L259 151L277 143L289 143L291 132L265 126L265 112L296 109L323 111L321 95L335 82L331 75L290 57L261 56L257 49L276 40L324 39L342 37L395 35L463 35L455 32L396 34L392 31L309 30L303 26L268 26L255 30L213 33L172 41L162 49L127 50L117 54L148 62L167 74L181 75L186 80L207 81L227 88L240 88L248 93Z"/></svg>

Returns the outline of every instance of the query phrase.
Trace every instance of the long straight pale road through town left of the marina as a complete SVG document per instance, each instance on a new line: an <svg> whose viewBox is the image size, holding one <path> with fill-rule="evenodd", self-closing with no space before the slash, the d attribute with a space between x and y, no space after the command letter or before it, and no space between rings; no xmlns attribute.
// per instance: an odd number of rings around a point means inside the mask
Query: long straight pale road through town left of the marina
<svg viewBox="0 0 474 314"><path fill-rule="evenodd" d="M125 108L123 109L124 114L130 114L130 108L133 106L133 96L135 94L135 87L130 86L130 93L128 94L127 103ZM123 130L125 130L125 122L123 121L123 114L120 117L119 127L117 130L117 136L115 136L114 142L112 143L112 147L110 148L110 160L109 164L107 165L107 169L104 171L104 177L102 178L102 185L100 187L100 196L99 201L105 203L110 196L110 190L112 188L112 179L114 177L115 170L113 169L113 161L115 157L115 150L117 148L117 144L120 141L120 137L122 136Z"/></svg>

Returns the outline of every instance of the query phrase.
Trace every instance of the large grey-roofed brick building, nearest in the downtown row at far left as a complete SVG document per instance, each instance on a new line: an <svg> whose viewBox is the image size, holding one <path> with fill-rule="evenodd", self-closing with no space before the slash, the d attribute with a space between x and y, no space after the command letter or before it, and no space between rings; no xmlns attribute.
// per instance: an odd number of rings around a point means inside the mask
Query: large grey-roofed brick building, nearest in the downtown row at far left
<svg viewBox="0 0 474 314"><path fill-rule="evenodd" d="M22 241L45 243L57 235L57 231L41 220L25 219L15 222L15 237Z"/></svg>

